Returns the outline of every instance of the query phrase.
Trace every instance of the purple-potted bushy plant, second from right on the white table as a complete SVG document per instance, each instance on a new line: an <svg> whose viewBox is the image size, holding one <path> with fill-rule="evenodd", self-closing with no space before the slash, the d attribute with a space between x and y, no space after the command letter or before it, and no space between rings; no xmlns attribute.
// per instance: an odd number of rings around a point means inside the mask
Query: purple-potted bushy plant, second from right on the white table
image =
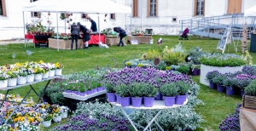
<svg viewBox="0 0 256 131"><path fill-rule="evenodd" d="M174 105L175 97L178 94L178 88L176 83L165 83L160 87L160 92L164 95L166 106Z"/></svg>

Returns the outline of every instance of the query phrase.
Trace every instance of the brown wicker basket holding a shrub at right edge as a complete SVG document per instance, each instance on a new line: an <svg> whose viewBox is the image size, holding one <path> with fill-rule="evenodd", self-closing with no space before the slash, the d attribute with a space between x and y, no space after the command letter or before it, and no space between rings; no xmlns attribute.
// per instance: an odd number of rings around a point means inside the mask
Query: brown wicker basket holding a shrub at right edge
<svg viewBox="0 0 256 131"><path fill-rule="evenodd" d="M256 110L256 96L244 94L242 96L242 106L244 108Z"/></svg>

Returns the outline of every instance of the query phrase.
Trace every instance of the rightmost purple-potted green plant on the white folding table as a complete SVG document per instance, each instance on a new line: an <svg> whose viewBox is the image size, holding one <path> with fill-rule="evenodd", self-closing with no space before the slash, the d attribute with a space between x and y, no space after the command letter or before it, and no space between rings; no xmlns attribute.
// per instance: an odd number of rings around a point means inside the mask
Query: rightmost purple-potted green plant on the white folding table
<svg viewBox="0 0 256 131"><path fill-rule="evenodd" d="M175 98L175 104L183 105L183 103L187 99L187 94L189 92L189 88L191 87L190 83L186 82L177 82L175 83L178 88L178 95Z"/></svg>

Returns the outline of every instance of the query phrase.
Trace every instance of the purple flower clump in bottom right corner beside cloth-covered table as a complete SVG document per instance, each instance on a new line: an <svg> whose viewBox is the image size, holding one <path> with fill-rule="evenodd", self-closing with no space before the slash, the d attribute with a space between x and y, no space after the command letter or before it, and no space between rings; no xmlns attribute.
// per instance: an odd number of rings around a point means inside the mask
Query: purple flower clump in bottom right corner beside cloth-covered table
<svg viewBox="0 0 256 131"><path fill-rule="evenodd" d="M219 129L221 131L232 130L232 131L240 131L240 113L241 104L236 105L235 112L226 117L220 124Z"/></svg>

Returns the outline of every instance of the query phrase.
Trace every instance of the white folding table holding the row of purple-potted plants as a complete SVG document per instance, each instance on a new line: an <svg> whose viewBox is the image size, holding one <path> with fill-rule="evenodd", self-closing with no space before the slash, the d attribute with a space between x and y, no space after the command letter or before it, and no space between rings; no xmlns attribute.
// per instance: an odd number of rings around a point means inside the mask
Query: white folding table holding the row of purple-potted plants
<svg viewBox="0 0 256 131"><path fill-rule="evenodd" d="M186 105L188 103L188 99L183 103L183 105ZM136 122L132 122L131 121L131 118L129 117L129 115L127 115L127 113L125 112L124 108L128 108L128 109L135 109L135 110L144 110L146 112L146 116L147 116L147 119L148 119L148 116L150 117L153 117L153 115L150 113L149 110L154 110L154 109L157 109L159 110L157 112L157 114L150 120L150 122L148 122L148 125L143 129L143 131L146 131L148 128L149 130L151 130L150 128L150 125L155 122L156 125L160 128L160 130L164 131L163 128L160 127L160 124L158 122L155 121L155 119L160 115L160 113L163 111L163 110L166 110L166 109L171 109L171 108L177 108L177 107L180 107L182 105L172 105L172 106L166 106L165 105L165 102L164 100L154 100L154 104L152 107L145 107L144 105L142 105L141 107L133 107L132 105L130 106L121 106L120 104L116 103L116 102L111 102L112 105L117 105L117 106L120 106L120 109L121 111L124 113L125 117L127 117L127 119L129 120L129 122L131 122L131 125L132 127L136 130L137 128L135 127L135 124L140 127L140 128L144 128L143 126L141 126L140 124L136 123Z"/></svg>

